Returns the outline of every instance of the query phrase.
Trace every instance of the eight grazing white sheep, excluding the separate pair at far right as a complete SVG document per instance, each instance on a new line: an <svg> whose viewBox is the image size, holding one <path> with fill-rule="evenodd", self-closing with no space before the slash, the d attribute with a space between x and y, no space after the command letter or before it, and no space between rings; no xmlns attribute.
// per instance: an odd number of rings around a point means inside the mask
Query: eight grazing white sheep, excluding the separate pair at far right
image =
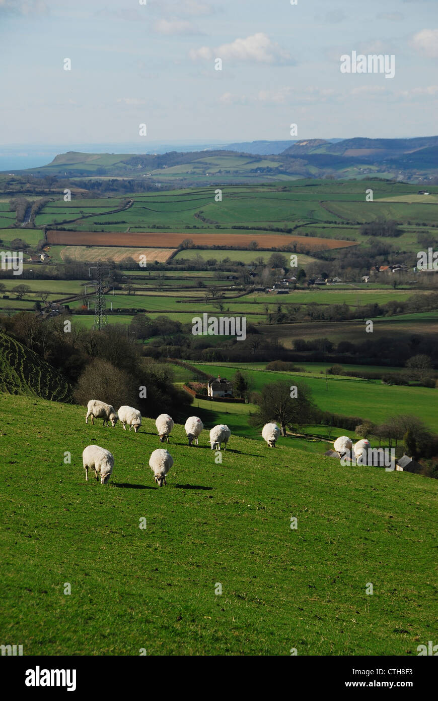
<svg viewBox="0 0 438 701"><path fill-rule="evenodd" d="M120 421L123 428L129 426L134 428L134 432L137 433L141 426L141 414L138 409L133 407L120 407L118 411L115 411L111 404L105 404L105 402L100 402L99 400L92 399L87 404L87 416L85 416L85 423L88 423L88 419L91 417L91 423L94 426L94 418L102 418L104 420L104 426L115 426L115 424ZM169 416L169 414L160 414L155 421L155 426L157 427L158 436L160 437L160 443L167 441L169 443L169 435L174 428L174 420ZM204 424L202 423L199 416L190 416L185 422L185 433L188 437L189 445L191 446L193 442L198 445L198 438L201 435L202 430L204 430ZM271 448L275 447L276 440L280 435L280 429L276 423L267 423L263 427L262 437L267 442L268 446ZM231 436L231 431L228 426L220 423L218 426L214 426L210 431L211 449L220 450L221 445L224 445L224 449L227 449L227 442ZM94 475L101 484L106 484L108 479L111 477L114 467L114 458L110 451L105 448L101 448L99 445L89 445L85 448L82 454L83 466L85 469L85 479L88 481L88 470L94 470ZM155 482L159 486L167 484L166 475L174 464L174 458L168 450L157 449L154 450L149 458L149 466L155 475Z"/></svg>

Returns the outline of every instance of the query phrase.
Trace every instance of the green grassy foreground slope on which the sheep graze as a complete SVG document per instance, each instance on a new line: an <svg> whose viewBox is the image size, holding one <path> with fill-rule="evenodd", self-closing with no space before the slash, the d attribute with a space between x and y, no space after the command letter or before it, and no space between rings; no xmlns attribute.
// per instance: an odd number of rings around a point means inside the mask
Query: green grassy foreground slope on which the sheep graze
<svg viewBox="0 0 438 701"><path fill-rule="evenodd" d="M0 615L24 655L416 655L432 639L435 480L285 439L233 436L216 464L176 426L160 489L153 421L85 426L83 407L8 395L0 411ZM115 456L105 487L85 482L93 443Z"/></svg>

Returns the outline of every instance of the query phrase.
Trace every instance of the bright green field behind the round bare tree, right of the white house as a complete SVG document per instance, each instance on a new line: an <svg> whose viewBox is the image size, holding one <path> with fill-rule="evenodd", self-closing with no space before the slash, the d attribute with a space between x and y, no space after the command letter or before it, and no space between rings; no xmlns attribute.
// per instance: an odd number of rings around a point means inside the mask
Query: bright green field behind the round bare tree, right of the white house
<svg viewBox="0 0 438 701"><path fill-rule="evenodd" d="M204 372L213 376L220 374L227 377L224 369L229 367L229 374L234 374L239 364L222 365L192 362ZM297 363L299 365L299 363ZM382 385L380 381L362 379L343 379L338 376L328 377L328 389L324 375L305 376L291 372L270 372L267 370L248 370L251 390L260 391L269 382L303 381L311 388L316 405L323 411L335 414L360 416L373 422L386 421L395 414L414 414L421 418L430 428L436 429L438 422L438 392L426 387L405 387ZM229 378L228 378L229 379Z"/></svg>

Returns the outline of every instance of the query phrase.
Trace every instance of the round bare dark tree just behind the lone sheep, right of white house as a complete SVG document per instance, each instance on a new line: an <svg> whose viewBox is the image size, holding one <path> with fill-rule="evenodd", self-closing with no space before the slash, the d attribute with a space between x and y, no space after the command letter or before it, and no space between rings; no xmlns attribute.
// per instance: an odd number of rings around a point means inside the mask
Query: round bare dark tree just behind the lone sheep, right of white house
<svg viewBox="0 0 438 701"><path fill-rule="evenodd" d="M277 421L281 434L286 435L286 428L296 428L310 423L316 407L311 399L311 390L304 383L296 385L297 396L290 396L288 383L276 382L264 385L260 394L255 395L258 412L250 418L253 425L262 425Z"/></svg>

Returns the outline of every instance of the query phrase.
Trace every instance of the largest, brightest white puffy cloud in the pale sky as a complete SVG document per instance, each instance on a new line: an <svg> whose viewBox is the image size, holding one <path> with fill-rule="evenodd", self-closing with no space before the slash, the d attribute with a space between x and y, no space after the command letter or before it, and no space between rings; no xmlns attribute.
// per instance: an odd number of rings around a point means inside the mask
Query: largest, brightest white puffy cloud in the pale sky
<svg viewBox="0 0 438 701"><path fill-rule="evenodd" d="M214 49L209 46L192 49L189 55L192 60L211 60L218 57L222 60L255 61L268 64L290 65L293 63L290 54L262 32L247 36L246 39L235 39L232 43L222 44Z"/></svg>

